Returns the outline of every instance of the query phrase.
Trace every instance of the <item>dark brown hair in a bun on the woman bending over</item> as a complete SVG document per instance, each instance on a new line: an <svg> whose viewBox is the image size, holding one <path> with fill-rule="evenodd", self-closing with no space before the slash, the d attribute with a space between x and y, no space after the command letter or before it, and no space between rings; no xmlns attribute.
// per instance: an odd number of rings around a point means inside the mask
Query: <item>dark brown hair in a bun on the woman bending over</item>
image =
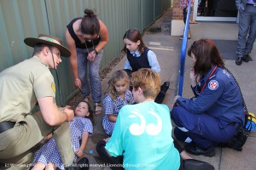
<svg viewBox="0 0 256 170"><path fill-rule="evenodd" d="M88 35L99 35L100 32L100 22L97 19L96 14L88 8L84 10L84 18L81 22L81 31L83 34Z"/></svg>

